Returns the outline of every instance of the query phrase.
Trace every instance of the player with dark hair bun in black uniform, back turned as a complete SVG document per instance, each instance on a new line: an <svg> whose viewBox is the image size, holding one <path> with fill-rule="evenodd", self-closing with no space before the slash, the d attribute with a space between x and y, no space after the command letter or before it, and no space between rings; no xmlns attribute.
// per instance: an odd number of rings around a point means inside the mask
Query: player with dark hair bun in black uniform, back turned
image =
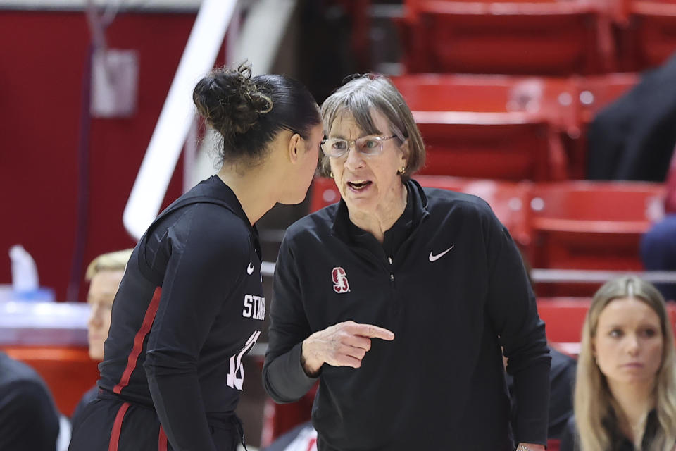
<svg viewBox="0 0 676 451"><path fill-rule="evenodd" d="M99 394L70 451L232 451L242 359L265 296L255 223L306 197L323 137L317 102L283 75L215 69L193 101L223 163L168 206L134 248L111 313Z"/></svg>

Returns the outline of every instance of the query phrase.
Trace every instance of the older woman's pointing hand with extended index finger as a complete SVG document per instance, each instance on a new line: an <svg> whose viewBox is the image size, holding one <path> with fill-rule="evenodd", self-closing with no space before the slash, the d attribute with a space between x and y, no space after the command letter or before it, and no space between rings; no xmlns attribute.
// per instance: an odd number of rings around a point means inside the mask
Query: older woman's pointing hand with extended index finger
<svg viewBox="0 0 676 451"><path fill-rule="evenodd" d="M317 377L323 364L359 368L371 349L371 338L394 340L394 333L373 324L354 321L337 323L319 330L303 341L301 364L310 377Z"/></svg>

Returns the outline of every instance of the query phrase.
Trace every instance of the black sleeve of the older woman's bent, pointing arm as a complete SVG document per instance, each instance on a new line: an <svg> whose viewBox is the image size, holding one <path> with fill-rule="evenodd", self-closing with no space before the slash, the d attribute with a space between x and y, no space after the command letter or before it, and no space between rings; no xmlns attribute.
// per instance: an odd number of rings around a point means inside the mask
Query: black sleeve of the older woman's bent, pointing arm
<svg viewBox="0 0 676 451"><path fill-rule="evenodd" d="M296 274L296 261L284 238L275 266L269 345L263 364L263 385L275 402L299 400L317 380L308 377L301 365L301 345L312 331Z"/></svg>

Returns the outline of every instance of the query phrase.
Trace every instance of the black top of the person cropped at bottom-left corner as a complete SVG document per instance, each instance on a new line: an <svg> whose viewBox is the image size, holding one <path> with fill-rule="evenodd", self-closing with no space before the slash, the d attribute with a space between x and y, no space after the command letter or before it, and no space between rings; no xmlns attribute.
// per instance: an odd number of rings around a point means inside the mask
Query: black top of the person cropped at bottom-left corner
<svg viewBox="0 0 676 451"><path fill-rule="evenodd" d="M54 451L58 412L42 378L0 351L0 450Z"/></svg>

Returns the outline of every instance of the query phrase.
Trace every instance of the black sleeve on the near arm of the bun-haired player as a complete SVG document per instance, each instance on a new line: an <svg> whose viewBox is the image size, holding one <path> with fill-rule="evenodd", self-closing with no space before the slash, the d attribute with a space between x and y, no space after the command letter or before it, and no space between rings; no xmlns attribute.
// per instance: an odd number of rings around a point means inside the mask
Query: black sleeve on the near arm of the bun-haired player
<svg viewBox="0 0 676 451"><path fill-rule="evenodd" d="M176 230L169 230L171 255L148 340L150 393L169 443L177 450L216 450L197 362L223 300L249 263L248 233L242 233L241 220L233 216L225 221L218 209L199 206Z"/></svg>

